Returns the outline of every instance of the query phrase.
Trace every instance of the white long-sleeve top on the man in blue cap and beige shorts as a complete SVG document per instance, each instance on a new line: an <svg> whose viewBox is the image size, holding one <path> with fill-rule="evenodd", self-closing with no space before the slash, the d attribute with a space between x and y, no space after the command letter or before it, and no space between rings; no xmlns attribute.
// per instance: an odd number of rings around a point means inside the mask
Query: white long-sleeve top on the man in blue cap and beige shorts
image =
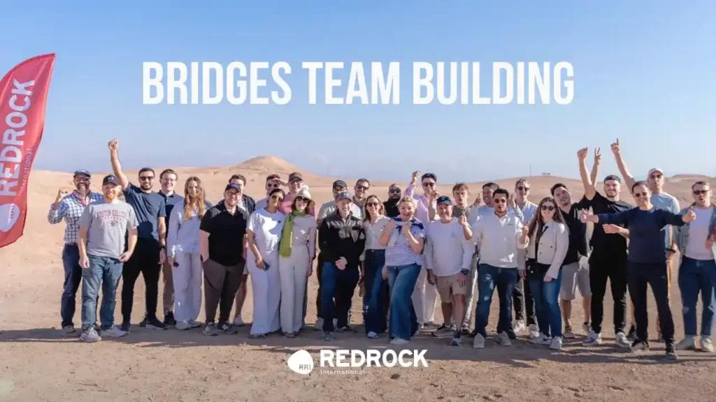
<svg viewBox="0 0 716 402"><path fill-rule="evenodd" d="M465 240L463 227L457 219L443 223L434 220L425 232L425 268L436 276L450 276L469 270L475 246Z"/></svg>

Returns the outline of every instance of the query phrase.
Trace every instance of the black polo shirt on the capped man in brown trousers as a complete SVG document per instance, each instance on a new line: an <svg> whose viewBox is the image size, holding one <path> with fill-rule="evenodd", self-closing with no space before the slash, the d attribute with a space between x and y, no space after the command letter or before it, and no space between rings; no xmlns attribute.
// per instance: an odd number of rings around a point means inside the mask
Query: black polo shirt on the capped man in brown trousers
<svg viewBox="0 0 716 402"><path fill-rule="evenodd" d="M248 215L241 208L231 215L221 202L206 211L199 229L209 234L209 258L226 267L244 263L246 225Z"/></svg>

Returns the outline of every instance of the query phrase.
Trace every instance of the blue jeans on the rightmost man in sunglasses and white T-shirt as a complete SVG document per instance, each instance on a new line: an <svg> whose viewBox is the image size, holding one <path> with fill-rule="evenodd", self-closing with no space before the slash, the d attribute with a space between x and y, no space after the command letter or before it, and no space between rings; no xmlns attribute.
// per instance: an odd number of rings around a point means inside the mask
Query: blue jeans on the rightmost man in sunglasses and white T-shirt
<svg viewBox="0 0 716 402"><path fill-rule="evenodd" d="M696 303L701 292L701 336L710 337L713 328L716 298L716 261L684 257L679 268L679 290L684 314L684 333L696 336Z"/></svg>

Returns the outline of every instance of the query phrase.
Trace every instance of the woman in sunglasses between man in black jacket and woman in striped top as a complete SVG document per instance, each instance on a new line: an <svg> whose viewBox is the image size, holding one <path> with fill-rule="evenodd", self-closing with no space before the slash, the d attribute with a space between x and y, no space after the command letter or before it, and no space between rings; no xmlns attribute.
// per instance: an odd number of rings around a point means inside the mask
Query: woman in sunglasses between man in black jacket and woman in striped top
<svg viewBox="0 0 716 402"><path fill-rule="evenodd" d="M368 338L377 338L386 330L385 302L388 285L383 279L382 270L385 265L385 246L380 243L383 230L391 221L384 215L383 203L371 195L365 201L365 251L363 261L365 295L363 297L363 319Z"/></svg>

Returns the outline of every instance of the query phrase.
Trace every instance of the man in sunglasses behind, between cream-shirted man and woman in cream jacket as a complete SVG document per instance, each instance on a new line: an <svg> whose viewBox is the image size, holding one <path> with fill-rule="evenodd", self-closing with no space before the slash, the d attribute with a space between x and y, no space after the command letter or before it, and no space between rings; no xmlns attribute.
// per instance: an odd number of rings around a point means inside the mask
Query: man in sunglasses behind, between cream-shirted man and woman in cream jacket
<svg viewBox="0 0 716 402"><path fill-rule="evenodd" d="M511 199L510 207L519 210L522 213L522 225L528 226L530 221L537 212L537 205L528 200L530 193L530 182L527 179L519 179L515 182L515 197ZM527 255L520 255L520 264L524 263ZM513 295L513 305L515 308L515 327L513 328L516 335L523 330L529 328L530 338L537 338L539 330L537 329L537 316L535 315L534 300L530 293L530 287L525 285L525 280L518 276L515 293ZM527 310L527 322L525 323L524 310Z"/></svg>

